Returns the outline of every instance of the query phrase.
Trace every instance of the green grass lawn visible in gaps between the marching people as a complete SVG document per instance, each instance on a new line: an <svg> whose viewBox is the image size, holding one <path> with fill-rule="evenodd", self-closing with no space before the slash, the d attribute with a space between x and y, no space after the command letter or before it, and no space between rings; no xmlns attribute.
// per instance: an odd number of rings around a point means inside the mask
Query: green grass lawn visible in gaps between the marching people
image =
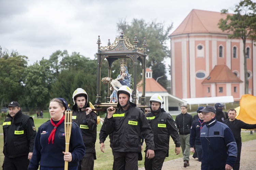
<svg viewBox="0 0 256 170"><path fill-rule="evenodd" d="M36 115L31 115L32 117L33 116L35 117L34 118L34 124L35 124L35 127L37 129L42 123L44 123L48 120L48 114L47 113L48 112L44 112L44 117L45 118L43 118L43 119L37 119ZM175 117L176 116L173 116L174 119L175 119ZM100 131L101 126L102 126L101 123L98 124L98 127L97 127L98 132ZM1 134L3 133L2 123L1 123L0 133ZM241 136L242 136L242 142L256 139L256 133L253 133L253 135L250 135L250 131L246 131L246 132L242 131ZM3 135L0 135L0 141L1 141L0 142L0 148L3 148L3 142L2 142L3 141ZM97 133L97 140L96 140L96 144L95 144L96 156L97 156L97 159L95 160L95 163L94 163L94 169L95 170L108 170L108 169L111 170L112 169L113 155L112 155L112 150L110 148L109 138L107 138L104 143L105 143L105 149L104 149L104 153L102 153L100 151L99 133ZM143 143L143 151L142 151L143 159L141 161L138 161L139 168L144 167L144 156L145 156L144 149L145 149L145 142ZM173 142L172 138L170 138L169 157L167 157L165 159L165 161L182 157L182 153L180 153L179 155L175 155L174 149L175 149L174 142ZM2 164L3 164L3 154L0 154L0 165L2 166Z"/></svg>

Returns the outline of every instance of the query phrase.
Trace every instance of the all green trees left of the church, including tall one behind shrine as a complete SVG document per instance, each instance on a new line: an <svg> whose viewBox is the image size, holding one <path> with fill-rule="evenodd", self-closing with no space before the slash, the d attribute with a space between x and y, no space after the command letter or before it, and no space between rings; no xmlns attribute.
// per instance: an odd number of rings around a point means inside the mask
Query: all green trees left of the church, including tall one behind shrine
<svg viewBox="0 0 256 170"><path fill-rule="evenodd" d="M164 23L156 21L146 23L143 19L133 19L131 23L120 20L117 28L119 32L124 32L131 44L134 34L137 33L140 48L146 37L148 45L146 67L152 69L154 79L163 76L158 83L166 88L167 71L163 62L164 58L169 56L166 40L172 25L166 27ZM128 72L133 78L133 63L127 60ZM115 79L120 71L119 60L113 62L111 67L111 77ZM141 73L142 68L138 66L137 81L141 80ZM108 76L108 63L105 60L101 66L101 78L106 76ZM72 94L76 88L85 89L89 101L95 103L97 58L91 60L77 52L69 55L66 50L58 50L49 56L49 59L42 58L33 65L28 65L27 56L20 55L16 51L2 50L0 46L0 107L7 106L10 101L18 101L22 107L27 107L33 112L47 108L49 101L55 97L65 98L70 105L73 105ZM101 84L102 102L106 102L107 88L107 85Z"/></svg>

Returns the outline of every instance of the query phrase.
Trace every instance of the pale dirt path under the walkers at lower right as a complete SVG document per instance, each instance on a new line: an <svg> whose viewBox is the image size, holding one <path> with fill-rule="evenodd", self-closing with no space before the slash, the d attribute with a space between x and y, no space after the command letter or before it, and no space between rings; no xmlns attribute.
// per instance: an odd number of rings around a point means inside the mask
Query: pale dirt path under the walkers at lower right
<svg viewBox="0 0 256 170"><path fill-rule="evenodd" d="M253 170L256 169L256 139L243 142L242 143L242 151L241 151L241 160L240 160L240 169L241 170ZM198 162L198 159L194 159L192 156L189 157L190 166L187 168L183 167L183 159L174 159L169 160L163 163L162 170L170 170L170 169L187 169L187 170L199 170L201 169L201 163ZM139 170L145 170L145 168L139 168Z"/></svg>

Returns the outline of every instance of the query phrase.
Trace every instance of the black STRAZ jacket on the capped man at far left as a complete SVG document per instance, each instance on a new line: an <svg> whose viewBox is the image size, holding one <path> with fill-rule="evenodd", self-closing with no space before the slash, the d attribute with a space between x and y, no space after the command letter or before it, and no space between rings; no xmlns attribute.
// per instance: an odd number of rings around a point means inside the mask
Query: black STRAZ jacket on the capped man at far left
<svg viewBox="0 0 256 170"><path fill-rule="evenodd" d="M14 118L9 114L3 122L3 154L9 158L28 155L33 152L37 131L33 118L20 110Z"/></svg>

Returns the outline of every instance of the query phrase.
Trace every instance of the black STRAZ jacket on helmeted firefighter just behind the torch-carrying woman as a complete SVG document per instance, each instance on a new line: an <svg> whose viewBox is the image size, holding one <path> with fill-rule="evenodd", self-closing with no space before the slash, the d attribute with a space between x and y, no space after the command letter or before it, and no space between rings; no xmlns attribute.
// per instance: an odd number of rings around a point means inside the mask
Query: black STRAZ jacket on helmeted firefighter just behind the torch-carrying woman
<svg viewBox="0 0 256 170"><path fill-rule="evenodd" d="M88 104L84 108L89 107ZM81 111L75 104L72 112L72 121L81 129L85 145L85 153L95 153L95 142L97 138L97 115L91 112L86 115L86 111Z"/></svg>

